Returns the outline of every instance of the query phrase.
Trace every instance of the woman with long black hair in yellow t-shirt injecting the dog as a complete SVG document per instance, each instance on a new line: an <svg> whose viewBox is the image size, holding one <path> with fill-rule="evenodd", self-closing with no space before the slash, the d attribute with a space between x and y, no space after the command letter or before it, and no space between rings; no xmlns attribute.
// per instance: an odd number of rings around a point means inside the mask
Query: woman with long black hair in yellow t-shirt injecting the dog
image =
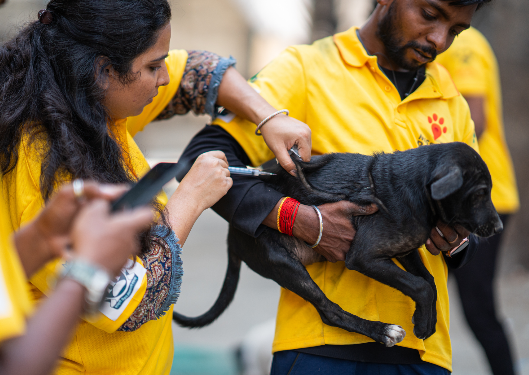
<svg viewBox="0 0 529 375"><path fill-rule="evenodd" d="M2 221L10 230L34 218L65 181L130 183L144 175L149 166L132 137L157 118L189 111L214 117L223 106L259 123L276 112L233 59L169 51L170 16L167 0L52 0L0 47ZM293 144L309 159L305 124L276 116L262 133L287 170ZM57 373L170 372L180 245L201 210L220 197L213 193L232 184L222 152L195 165L207 173L196 175L202 180L186 176L168 214L159 208L166 225L142 233L141 254L111 282L100 314L77 326ZM166 200L160 196L158 207ZM33 275L33 298L49 293L56 269L50 262Z"/></svg>

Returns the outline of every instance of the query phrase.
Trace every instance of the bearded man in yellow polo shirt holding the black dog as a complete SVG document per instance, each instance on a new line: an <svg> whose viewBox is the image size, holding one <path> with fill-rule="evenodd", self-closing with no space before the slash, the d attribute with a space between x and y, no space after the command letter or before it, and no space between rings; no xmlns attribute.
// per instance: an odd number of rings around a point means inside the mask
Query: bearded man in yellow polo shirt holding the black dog
<svg viewBox="0 0 529 375"><path fill-rule="evenodd" d="M486 0L378 0L362 29L290 47L250 82L269 103L312 130L312 154L393 152L431 143L460 141L478 150L467 102L448 71L433 62L455 35L468 29ZM283 116L283 115L281 115ZM266 127L266 124L264 125ZM255 124L224 114L198 133L184 151L194 158L207 150L225 152L230 166L259 164L274 156L254 135ZM276 227L282 194L258 178L234 177L233 187L213 208L234 227L258 236ZM458 267L469 252L445 260L468 234L441 225L419 249L436 280L436 332L426 340L413 334L415 304L399 291L345 268L354 236L348 202L320 206L323 236L315 250L329 262L307 266L317 285L344 310L372 321L401 325L405 339L386 348L366 336L325 325L316 309L282 289L272 374L446 374L452 371L447 263ZM365 212L364 212L365 213ZM318 218L301 205L293 233L307 243L318 235Z"/></svg>

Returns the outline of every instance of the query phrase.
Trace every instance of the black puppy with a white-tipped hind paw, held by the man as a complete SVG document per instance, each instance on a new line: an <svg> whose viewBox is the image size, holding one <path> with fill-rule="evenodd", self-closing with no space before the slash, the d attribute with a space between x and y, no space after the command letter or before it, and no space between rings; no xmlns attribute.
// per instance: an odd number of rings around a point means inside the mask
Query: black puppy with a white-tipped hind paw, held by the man
<svg viewBox="0 0 529 375"><path fill-rule="evenodd" d="M299 177L276 164L267 170L278 176L267 178L267 183L306 205L339 200L378 205L375 214L351 218L357 233L345 266L411 297L416 303L414 333L419 339L430 337L437 322L437 290L417 248L438 219L481 237L503 230L490 199L490 174L479 154L467 144L454 142L374 156L325 154L296 164ZM259 275L312 303L325 324L386 346L404 339L402 327L362 319L329 300L304 267L324 261L323 257L295 237L266 228L254 239L230 227L228 255L226 278L214 306L196 318L175 312L181 326L202 327L222 314L235 294L242 260ZM407 272L391 260L395 257Z"/></svg>

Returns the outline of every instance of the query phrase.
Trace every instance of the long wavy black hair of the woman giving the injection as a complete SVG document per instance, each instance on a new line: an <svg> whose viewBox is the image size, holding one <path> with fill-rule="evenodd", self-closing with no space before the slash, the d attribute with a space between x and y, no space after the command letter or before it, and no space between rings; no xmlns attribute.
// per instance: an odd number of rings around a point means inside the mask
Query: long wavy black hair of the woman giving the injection
<svg viewBox="0 0 529 375"><path fill-rule="evenodd" d="M13 170L28 136L44 145L45 200L63 176L134 182L103 105L105 69L134 79L133 60L170 21L167 0L51 0L47 10L51 23L31 22L0 46L1 172Z"/></svg>

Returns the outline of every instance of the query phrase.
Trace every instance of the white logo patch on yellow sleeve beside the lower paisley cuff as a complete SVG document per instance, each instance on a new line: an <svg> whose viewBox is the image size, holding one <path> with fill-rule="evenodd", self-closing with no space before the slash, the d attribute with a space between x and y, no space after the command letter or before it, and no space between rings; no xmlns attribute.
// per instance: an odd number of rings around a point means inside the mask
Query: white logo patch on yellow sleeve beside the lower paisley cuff
<svg viewBox="0 0 529 375"><path fill-rule="evenodd" d="M103 303L99 311L109 319L115 321L129 305L132 297L141 287L141 282L147 270L141 263L128 259L120 274L112 280L106 288Z"/></svg>

